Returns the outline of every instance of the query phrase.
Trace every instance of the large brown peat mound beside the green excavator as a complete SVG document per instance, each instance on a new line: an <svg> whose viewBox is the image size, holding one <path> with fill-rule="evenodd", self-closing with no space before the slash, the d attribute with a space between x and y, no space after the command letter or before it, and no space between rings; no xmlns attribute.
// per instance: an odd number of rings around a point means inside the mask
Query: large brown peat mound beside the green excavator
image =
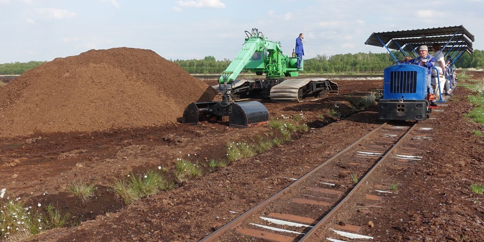
<svg viewBox="0 0 484 242"><path fill-rule="evenodd" d="M91 132L177 121L215 91L151 50L57 58L0 88L0 137Z"/></svg>

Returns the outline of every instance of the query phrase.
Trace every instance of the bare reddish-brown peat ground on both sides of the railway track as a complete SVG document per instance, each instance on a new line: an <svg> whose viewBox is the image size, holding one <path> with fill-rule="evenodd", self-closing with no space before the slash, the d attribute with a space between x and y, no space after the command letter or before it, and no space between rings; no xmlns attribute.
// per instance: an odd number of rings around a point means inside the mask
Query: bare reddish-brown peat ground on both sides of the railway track
<svg viewBox="0 0 484 242"><path fill-rule="evenodd" d="M469 75L470 73L468 73ZM477 78L481 73L473 73ZM337 80L339 96L296 104L260 100L271 117L303 112L310 131L252 158L242 159L169 192L123 206L108 186L113 178L156 166L171 167L176 158L200 164L225 157L227 140L269 136L266 126L231 129L225 123L179 123L95 133L42 134L0 142L0 184L15 194L56 203L76 227L46 231L29 241L198 241L249 210L381 124L377 108L355 111L348 100L366 95L381 81ZM10 84L8 84L10 85ZM411 170L394 176L400 189L391 206L372 211L378 241L484 241L482 195L471 183L484 183L482 126L466 120L469 90L459 88L445 113L432 114L434 147ZM338 107L341 119L327 114ZM318 115L325 115L322 121ZM435 116L434 116L435 115ZM250 131L250 132L249 132ZM408 168L410 169L410 168ZM66 187L93 181L96 198L84 205ZM413 197L411 201L409 197ZM232 213L232 212L235 213ZM390 214L390 215L389 215ZM365 215L366 216L366 215ZM463 240L465 238L465 240Z"/></svg>

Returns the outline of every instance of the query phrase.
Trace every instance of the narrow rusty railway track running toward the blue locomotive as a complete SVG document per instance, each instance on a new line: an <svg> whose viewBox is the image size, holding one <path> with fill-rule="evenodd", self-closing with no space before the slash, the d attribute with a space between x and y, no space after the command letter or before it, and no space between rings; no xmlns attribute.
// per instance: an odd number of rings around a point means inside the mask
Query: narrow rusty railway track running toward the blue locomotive
<svg viewBox="0 0 484 242"><path fill-rule="evenodd" d="M272 242L308 241L415 127L416 122L403 126L383 123L301 178L288 178L295 181L200 242L241 241L247 237ZM352 181L356 179L357 183Z"/></svg>

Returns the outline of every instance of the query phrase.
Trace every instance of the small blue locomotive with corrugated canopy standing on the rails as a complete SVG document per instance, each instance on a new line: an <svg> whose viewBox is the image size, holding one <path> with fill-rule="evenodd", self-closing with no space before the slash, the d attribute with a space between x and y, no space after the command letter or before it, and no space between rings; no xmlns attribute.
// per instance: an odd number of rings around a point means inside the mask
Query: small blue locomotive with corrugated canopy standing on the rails
<svg viewBox="0 0 484 242"><path fill-rule="evenodd" d="M464 26L440 27L419 30L400 30L372 33L366 40L366 45L385 47L395 60L395 64L385 68L383 72L383 96L378 99L380 120L404 120L422 121L428 118L432 111L430 100L434 99L434 94L429 93L429 69L420 65L415 65L413 60L409 62L398 61L393 55L393 50L398 50L405 57L410 55L417 58L416 49L419 46L427 46L430 49L432 43L444 45L442 50L445 56L449 56L453 61L457 61L465 52L472 54L472 42L474 35ZM412 59L410 57L410 59ZM435 69L435 67L432 67ZM437 70L437 69L436 69ZM447 73L455 70L447 70ZM453 88L453 75L448 75L450 89ZM439 75L437 75L437 83ZM439 102L442 103L442 93L438 88ZM432 91L432 89L430 89ZM434 105L432 105L434 106ZM437 105L435 105L437 106Z"/></svg>

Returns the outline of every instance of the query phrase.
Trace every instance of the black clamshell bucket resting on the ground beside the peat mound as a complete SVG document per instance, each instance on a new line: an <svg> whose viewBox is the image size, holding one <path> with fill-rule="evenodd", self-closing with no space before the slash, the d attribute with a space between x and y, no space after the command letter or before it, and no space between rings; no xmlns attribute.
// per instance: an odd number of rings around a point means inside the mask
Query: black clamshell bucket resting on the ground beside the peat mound
<svg viewBox="0 0 484 242"><path fill-rule="evenodd" d="M222 121L228 116L230 127L247 128L269 121L269 111L257 101L191 103L183 111L182 123L197 125L199 121Z"/></svg>

